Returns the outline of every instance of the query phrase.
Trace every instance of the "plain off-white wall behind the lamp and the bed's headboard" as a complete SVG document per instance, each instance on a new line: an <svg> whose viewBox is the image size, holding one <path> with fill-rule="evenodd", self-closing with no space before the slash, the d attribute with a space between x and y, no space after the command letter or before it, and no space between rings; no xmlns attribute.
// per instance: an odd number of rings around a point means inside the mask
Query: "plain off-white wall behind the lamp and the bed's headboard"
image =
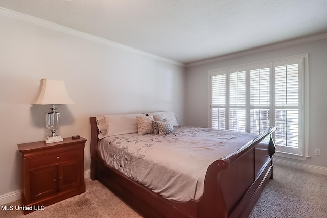
<svg viewBox="0 0 327 218"><path fill-rule="evenodd" d="M173 111L183 124L184 67L0 15L0 196L20 190L18 143L42 141L46 105L31 105L42 78L64 80L72 105L58 105L62 137L87 138L89 117Z"/></svg>

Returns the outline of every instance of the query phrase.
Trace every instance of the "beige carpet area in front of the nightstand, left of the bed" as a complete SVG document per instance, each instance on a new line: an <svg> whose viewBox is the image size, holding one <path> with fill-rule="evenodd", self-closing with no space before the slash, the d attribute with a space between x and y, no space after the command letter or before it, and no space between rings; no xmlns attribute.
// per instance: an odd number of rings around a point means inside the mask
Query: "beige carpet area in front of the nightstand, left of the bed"
<svg viewBox="0 0 327 218"><path fill-rule="evenodd" d="M0 211L0 217L141 217L98 181L85 179L86 192L23 215L21 211ZM8 205L21 205L14 201ZM14 206L15 207L15 206Z"/></svg>

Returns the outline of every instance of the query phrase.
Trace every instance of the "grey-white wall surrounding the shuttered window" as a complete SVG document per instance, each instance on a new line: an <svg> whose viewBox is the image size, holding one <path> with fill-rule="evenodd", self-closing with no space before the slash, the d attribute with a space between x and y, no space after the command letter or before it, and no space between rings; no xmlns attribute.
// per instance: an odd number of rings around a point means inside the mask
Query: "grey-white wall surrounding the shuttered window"
<svg viewBox="0 0 327 218"><path fill-rule="evenodd" d="M185 125L207 127L208 117L208 70L237 66L276 58L309 54L309 155L306 161L278 158L292 162L293 166L312 166L327 169L327 39L320 39L269 51L233 57L194 65L185 75ZM320 148L321 155L314 155Z"/></svg>

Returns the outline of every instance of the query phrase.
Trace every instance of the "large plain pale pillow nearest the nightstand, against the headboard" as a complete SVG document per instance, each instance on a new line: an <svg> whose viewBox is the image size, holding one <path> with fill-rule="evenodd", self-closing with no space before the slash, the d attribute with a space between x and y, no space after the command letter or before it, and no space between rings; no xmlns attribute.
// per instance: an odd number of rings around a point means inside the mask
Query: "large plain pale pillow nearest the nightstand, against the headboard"
<svg viewBox="0 0 327 218"><path fill-rule="evenodd" d="M137 133L136 116L145 116L145 114L118 114L98 116L97 126L99 129L98 138L107 136Z"/></svg>

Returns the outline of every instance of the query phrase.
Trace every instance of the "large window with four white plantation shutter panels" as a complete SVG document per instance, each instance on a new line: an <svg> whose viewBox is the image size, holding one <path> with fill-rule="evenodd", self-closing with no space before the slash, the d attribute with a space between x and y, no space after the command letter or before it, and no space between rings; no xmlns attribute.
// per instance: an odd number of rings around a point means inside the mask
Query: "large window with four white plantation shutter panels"
<svg viewBox="0 0 327 218"><path fill-rule="evenodd" d="M261 134L276 126L277 151L303 150L303 61L308 55L209 71L209 127Z"/></svg>

